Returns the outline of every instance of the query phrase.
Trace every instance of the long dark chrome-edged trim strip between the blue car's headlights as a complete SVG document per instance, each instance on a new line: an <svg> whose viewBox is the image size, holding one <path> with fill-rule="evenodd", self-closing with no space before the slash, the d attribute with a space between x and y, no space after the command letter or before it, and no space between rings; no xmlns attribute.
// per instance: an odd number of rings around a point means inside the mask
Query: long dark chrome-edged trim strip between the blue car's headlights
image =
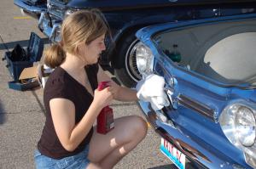
<svg viewBox="0 0 256 169"><path fill-rule="evenodd" d="M212 121L216 121L214 118L214 110L209 108L205 104L201 104L193 99L190 99L189 97L179 94L177 96L177 102L178 104L181 104L191 110L195 110L196 112L199 112L201 115L206 116L207 118L210 118Z"/></svg>

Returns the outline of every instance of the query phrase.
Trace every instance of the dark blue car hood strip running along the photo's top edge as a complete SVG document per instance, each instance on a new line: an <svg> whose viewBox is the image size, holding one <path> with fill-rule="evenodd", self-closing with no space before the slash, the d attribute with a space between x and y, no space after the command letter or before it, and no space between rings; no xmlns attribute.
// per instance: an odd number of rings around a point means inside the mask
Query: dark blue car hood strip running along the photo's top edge
<svg viewBox="0 0 256 169"><path fill-rule="evenodd" d="M65 0L62 0L65 1ZM125 9L125 8L148 8L160 6L177 5L199 5L214 3L246 3L255 2L255 0L148 0L148 1L130 1L130 0L71 0L67 5L72 8L101 8L105 10Z"/></svg>

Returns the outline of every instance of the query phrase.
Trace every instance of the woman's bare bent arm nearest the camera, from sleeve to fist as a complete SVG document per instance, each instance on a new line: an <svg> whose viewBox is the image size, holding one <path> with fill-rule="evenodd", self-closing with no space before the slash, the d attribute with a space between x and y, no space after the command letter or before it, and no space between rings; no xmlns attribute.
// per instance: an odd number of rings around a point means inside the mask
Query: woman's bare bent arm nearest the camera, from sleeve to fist
<svg viewBox="0 0 256 169"><path fill-rule="evenodd" d="M64 149L73 151L90 132L97 115L103 107L113 99L109 87L102 91L95 91L93 102L84 117L75 125L75 106L68 99L51 99L49 108L55 127L55 132Z"/></svg>

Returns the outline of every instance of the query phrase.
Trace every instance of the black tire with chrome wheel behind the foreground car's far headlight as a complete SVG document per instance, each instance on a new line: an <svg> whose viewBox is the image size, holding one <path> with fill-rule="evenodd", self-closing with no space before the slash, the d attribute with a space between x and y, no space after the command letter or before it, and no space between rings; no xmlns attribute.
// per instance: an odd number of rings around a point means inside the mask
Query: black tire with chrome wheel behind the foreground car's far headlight
<svg viewBox="0 0 256 169"><path fill-rule="evenodd" d="M135 37L136 31L122 38L117 46L117 55L113 59L114 74L119 82L126 87L135 87L142 76L137 70L135 50L133 47L139 42Z"/></svg>

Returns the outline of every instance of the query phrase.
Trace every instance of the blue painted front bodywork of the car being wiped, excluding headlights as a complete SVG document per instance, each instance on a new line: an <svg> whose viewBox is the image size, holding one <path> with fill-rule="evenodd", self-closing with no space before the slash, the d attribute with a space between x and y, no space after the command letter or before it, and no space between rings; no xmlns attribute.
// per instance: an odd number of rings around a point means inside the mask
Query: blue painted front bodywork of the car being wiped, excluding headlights
<svg viewBox="0 0 256 169"><path fill-rule="evenodd" d="M156 47L157 40L154 39L154 35L160 31L181 30L194 25L207 25L213 22L218 24L228 22L228 20L255 20L255 18L256 14L242 14L214 20L192 20L153 25L137 31L139 40L145 43L154 54L154 73L165 77L166 88L172 90L174 103L160 112L154 112L150 108L150 104L140 101L139 104L144 114L156 128L156 132L159 132L162 137L168 135L166 138L172 144L176 143L175 145L178 147L179 144L185 143L186 146L192 147L191 149L194 149L195 152L200 152L201 156L206 157L199 158L198 155L189 155L189 151L184 150L186 148L181 146L180 150L189 156L190 160L196 156L194 161L208 168L232 168L233 165L251 168L245 162L243 152L225 137L218 123L218 117L226 105L236 100L246 100L255 104L256 90L250 89L246 84L216 82L207 76L201 76L173 64L171 59L164 56ZM170 79L175 80L174 85ZM246 87L247 89L245 89ZM161 121L160 117L152 120L150 117L152 114L165 115L169 121Z"/></svg>

